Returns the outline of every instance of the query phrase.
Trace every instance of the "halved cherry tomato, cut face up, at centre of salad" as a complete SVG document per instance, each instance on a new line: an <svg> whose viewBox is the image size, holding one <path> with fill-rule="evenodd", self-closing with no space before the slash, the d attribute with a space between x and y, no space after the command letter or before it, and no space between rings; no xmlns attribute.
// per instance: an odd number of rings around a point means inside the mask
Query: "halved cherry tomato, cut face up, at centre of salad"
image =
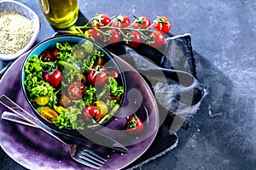
<svg viewBox="0 0 256 170"><path fill-rule="evenodd" d="M67 88L70 99L81 99L85 94L85 86L82 82L73 82Z"/></svg>

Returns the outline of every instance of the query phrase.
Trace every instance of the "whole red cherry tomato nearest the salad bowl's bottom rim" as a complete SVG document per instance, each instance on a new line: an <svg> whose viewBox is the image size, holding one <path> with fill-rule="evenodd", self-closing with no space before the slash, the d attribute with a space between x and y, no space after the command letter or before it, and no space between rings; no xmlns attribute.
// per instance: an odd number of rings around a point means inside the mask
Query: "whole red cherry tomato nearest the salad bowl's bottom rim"
<svg viewBox="0 0 256 170"><path fill-rule="evenodd" d="M96 119L96 121L98 121L101 118L101 111L95 105L89 105L84 108L82 116L83 116L85 122L88 122L88 118L89 118L88 116L90 116L90 117Z"/></svg>

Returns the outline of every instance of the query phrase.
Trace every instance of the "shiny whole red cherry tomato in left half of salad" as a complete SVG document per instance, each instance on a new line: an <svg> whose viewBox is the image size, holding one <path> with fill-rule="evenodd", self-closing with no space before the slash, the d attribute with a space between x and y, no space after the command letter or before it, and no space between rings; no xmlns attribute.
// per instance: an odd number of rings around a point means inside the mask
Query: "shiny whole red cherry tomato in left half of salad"
<svg viewBox="0 0 256 170"><path fill-rule="evenodd" d="M49 82L49 84L54 88L57 88L58 86L60 86L61 80L62 80L62 74L61 74L61 71L59 71L58 69L52 74L46 73L46 72L44 73L44 81Z"/></svg>

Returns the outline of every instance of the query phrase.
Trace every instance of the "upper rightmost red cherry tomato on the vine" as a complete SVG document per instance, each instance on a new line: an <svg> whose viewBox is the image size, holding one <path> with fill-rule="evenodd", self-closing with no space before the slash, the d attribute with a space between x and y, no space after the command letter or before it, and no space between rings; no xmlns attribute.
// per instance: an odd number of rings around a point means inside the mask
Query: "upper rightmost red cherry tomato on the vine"
<svg viewBox="0 0 256 170"><path fill-rule="evenodd" d="M168 33L171 30L172 24L169 19L162 16L154 21L154 29L158 31L162 31L164 33Z"/></svg>

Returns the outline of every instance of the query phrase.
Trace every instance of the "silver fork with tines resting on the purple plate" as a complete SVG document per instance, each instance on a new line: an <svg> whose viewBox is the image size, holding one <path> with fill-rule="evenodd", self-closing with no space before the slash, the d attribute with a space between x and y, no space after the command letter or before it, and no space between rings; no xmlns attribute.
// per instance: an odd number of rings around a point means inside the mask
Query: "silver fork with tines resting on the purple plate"
<svg viewBox="0 0 256 170"><path fill-rule="evenodd" d="M49 133L49 135L51 135L55 139L58 139L62 144L65 144L68 147L70 156L73 158L73 160L95 169L99 169L107 161L106 159L102 158L102 156L97 155L94 151L90 150L83 144L67 144L58 136L56 136L49 127L44 125L27 111L23 110L19 105L15 104L15 102L9 99L6 95L3 94L1 96L0 102L7 108L9 108L9 110L14 111L17 115L26 119L27 122L32 123L36 127L44 130L45 133Z"/></svg>

